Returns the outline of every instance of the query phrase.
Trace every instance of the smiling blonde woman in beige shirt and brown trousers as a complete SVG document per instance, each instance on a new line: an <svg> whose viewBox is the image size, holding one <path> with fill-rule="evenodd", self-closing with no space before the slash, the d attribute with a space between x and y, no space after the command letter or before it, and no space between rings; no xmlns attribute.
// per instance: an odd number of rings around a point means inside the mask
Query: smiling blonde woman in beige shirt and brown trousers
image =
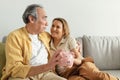
<svg viewBox="0 0 120 80"><path fill-rule="evenodd" d="M57 65L58 75L68 80L117 80L116 77L100 71L91 58L83 58L78 50L76 40L70 36L69 26L64 18L54 18L51 26L51 52L65 50L72 52L73 66ZM69 63L68 63L69 64Z"/></svg>

